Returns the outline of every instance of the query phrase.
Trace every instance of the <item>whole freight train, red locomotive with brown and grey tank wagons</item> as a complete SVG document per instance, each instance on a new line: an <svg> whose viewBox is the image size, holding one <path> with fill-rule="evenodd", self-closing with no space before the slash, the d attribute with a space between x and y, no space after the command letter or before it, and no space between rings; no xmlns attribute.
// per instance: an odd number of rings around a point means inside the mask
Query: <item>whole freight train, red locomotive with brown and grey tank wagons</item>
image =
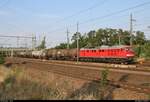
<svg viewBox="0 0 150 102"><path fill-rule="evenodd" d="M131 63L135 53L131 46L102 46L82 49L45 49L40 51L19 52L18 57L47 60L77 60L86 62Z"/></svg>

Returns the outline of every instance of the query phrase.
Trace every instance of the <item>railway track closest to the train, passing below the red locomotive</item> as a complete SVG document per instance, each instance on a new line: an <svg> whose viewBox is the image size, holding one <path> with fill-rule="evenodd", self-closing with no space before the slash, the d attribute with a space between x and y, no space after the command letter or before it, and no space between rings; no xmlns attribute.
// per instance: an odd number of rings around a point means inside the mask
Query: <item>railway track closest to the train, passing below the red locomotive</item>
<svg viewBox="0 0 150 102"><path fill-rule="evenodd" d="M34 63L45 63L45 64L53 64L59 67L76 67L76 68L83 68L83 69L93 69L97 71L108 69L111 72L119 72L119 73L126 73L126 74L136 74L136 75L147 75L150 76L150 67L143 67L141 65L118 65L118 64L98 64L98 63L76 63L71 61L47 61L47 60L39 60L39 59L27 59L27 58L15 58L17 62L34 62Z"/></svg>

